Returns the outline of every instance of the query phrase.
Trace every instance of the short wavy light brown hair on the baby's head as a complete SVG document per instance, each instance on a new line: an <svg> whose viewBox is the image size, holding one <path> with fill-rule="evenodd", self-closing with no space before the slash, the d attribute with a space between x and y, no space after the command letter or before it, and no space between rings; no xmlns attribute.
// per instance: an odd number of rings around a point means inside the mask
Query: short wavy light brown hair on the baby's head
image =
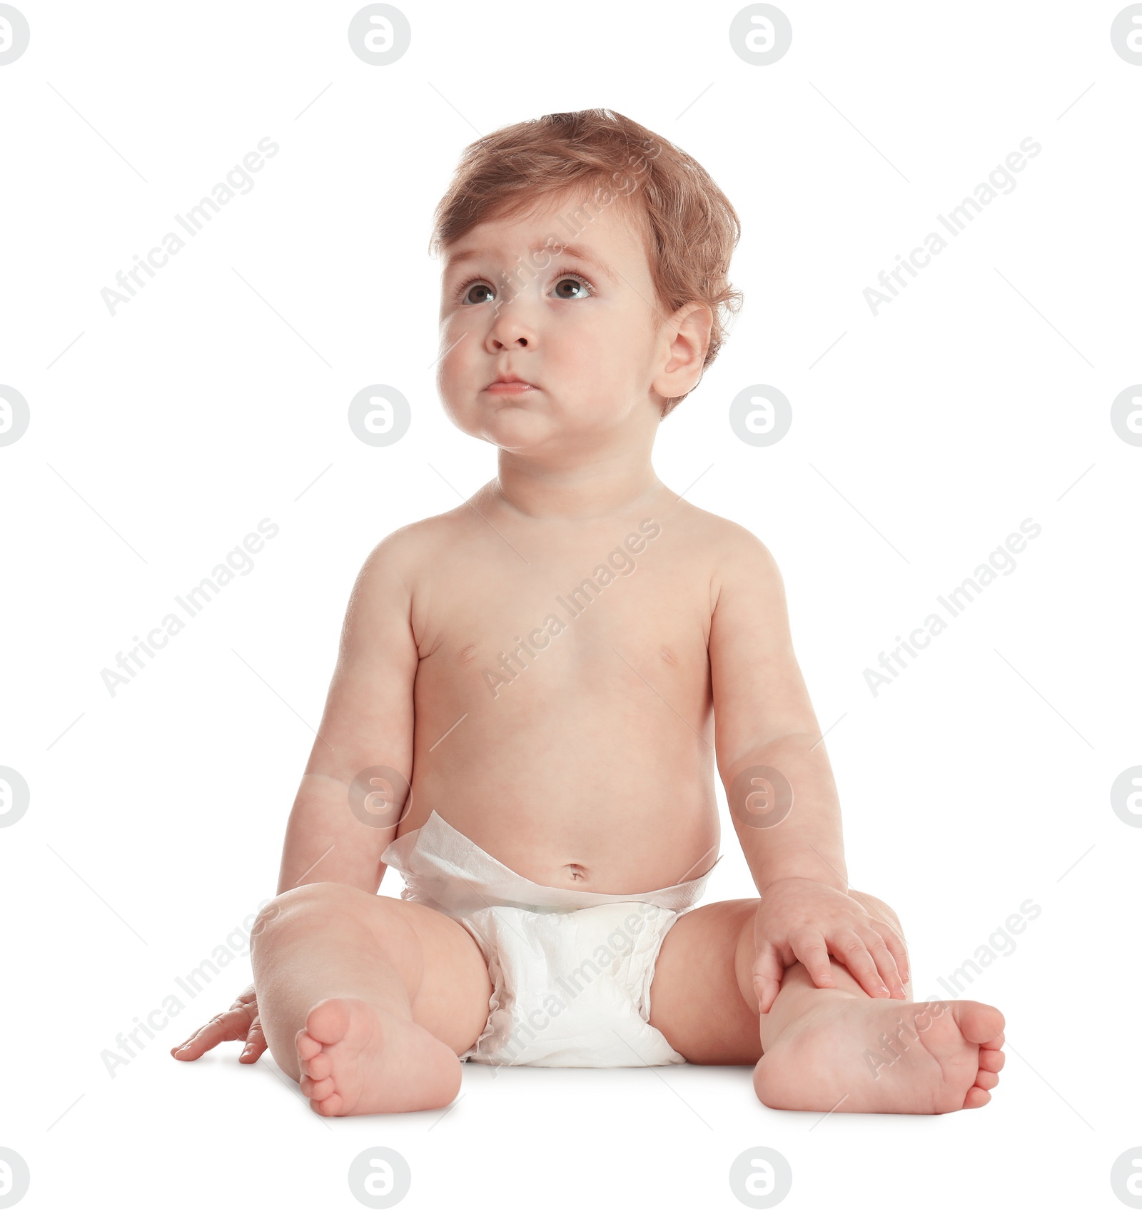
<svg viewBox="0 0 1142 1214"><path fill-rule="evenodd" d="M584 195L576 219L590 205L587 198L600 208L624 208L642 237L666 316L692 302L714 313L705 371L742 307L742 293L728 279L742 225L693 157L612 109L544 114L470 143L437 204L428 251L436 256L477 223L515 219L544 195L575 187ZM684 398L667 399L663 416Z"/></svg>

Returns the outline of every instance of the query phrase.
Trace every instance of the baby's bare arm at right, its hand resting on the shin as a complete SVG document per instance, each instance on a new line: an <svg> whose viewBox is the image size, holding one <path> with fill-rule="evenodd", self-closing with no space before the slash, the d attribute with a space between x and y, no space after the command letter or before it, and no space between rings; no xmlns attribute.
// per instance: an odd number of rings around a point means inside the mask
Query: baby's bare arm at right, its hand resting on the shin
<svg viewBox="0 0 1142 1214"><path fill-rule="evenodd" d="M754 971L761 1010L797 960L818 986L831 986L830 952L869 994L891 993L884 976L903 998L903 942L848 896L836 784L794 656L782 575L744 528L731 524L726 534L714 590L717 766L762 898Z"/></svg>

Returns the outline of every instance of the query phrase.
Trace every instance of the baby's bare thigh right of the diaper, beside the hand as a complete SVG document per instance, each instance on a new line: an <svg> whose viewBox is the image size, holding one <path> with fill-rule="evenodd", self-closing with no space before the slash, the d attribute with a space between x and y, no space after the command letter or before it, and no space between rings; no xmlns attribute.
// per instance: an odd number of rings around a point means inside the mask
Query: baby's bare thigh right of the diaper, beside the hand
<svg viewBox="0 0 1142 1214"><path fill-rule="evenodd" d="M757 904L757 898L738 898L698 907L681 915L663 940L650 985L650 1023L687 1062L740 1066L761 1057L752 994Z"/></svg>

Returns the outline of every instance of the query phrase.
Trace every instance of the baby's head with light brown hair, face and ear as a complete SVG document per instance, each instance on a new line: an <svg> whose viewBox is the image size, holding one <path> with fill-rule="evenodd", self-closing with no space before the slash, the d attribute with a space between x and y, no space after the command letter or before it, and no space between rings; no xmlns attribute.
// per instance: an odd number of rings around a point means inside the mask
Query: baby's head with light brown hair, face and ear
<svg viewBox="0 0 1142 1214"><path fill-rule="evenodd" d="M650 432L698 384L742 304L738 216L693 158L607 109L470 144L436 210L437 384L506 450ZM530 390L488 391L502 375Z"/></svg>

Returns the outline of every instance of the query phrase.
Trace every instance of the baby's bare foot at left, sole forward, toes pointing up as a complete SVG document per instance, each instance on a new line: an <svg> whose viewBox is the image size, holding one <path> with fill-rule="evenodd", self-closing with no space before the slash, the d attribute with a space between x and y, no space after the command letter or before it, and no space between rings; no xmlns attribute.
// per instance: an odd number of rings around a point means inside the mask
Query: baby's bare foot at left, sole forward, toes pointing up
<svg viewBox="0 0 1142 1214"><path fill-rule="evenodd" d="M297 1033L297 1067L323 1117L442 1108L460 1090L460 1060L443 1042L362 999L314 1004Z"/></svg>

